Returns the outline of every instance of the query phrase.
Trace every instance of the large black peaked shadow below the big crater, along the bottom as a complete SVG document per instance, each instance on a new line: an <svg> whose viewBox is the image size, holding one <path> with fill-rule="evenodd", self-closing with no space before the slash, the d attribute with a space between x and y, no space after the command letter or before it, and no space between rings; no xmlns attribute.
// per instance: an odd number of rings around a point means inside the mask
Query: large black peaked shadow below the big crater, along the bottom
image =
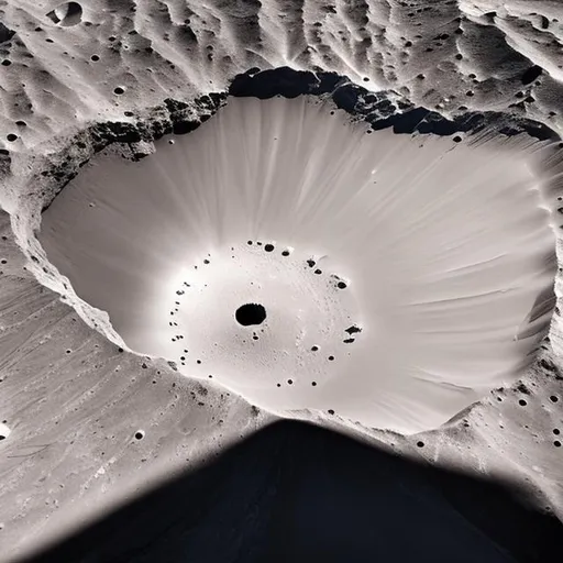
<svg viewBox="0 0 563 563"><path fill-rule="evenodd" d="M562 553L562 523L507 486L282 421L26 561L544 563Z"/></svg>

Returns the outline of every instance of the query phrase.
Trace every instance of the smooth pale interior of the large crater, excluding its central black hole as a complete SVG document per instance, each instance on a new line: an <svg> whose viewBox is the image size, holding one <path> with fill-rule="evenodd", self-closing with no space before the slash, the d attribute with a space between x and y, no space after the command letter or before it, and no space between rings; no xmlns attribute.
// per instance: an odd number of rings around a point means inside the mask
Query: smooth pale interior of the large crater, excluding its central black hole
<svg viewBox="0 0 563 563"><path fill-rule="evenodd" d="M282 415L438 427L516 379L549 324L533 143L367 134L330 110L231 99L141 163L99 157L40 240L136 352ZM265 320L242 325L246 303Z"/></svg>

